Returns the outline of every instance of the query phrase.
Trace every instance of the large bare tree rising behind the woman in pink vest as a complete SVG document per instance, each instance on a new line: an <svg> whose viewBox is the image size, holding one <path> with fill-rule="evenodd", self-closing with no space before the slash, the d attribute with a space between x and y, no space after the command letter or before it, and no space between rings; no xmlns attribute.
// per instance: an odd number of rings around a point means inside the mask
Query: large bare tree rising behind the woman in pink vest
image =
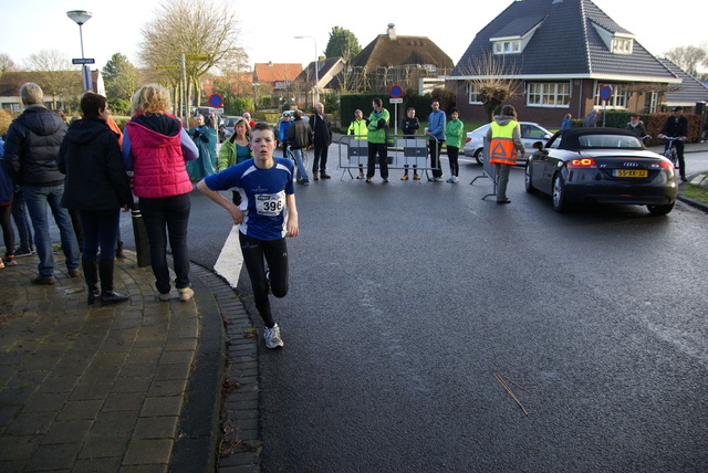
<svg viewBox="0 0 708 473"><path fill-rule="evenodd" d="M180 54L208 54L206 61L186 63L187 91L197 104L201 101L200 78L214 66L242 61L238 46L238 19L233 3L226 0L176 0L160 3L155 18L140 30L143 65L179 65ZM162 74L167 83L179 80L179 72ZM176 96L180 104L181 96Z"/></svg>

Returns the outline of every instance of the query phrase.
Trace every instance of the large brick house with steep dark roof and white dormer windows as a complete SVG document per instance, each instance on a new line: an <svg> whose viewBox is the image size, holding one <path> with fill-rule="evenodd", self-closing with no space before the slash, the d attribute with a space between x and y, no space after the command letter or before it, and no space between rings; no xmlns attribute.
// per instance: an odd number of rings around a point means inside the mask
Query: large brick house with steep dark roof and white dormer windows
<svg viewBox="0 0 708 473"><path fill-rule="evenodd" d="M546 126L604 107L605 85L607 109L659 112L683 82L591 0L513 1L480 30L446 77L464 119L488 119L478 98L487 76L512 80L508 103L521 119Z"/></svg>

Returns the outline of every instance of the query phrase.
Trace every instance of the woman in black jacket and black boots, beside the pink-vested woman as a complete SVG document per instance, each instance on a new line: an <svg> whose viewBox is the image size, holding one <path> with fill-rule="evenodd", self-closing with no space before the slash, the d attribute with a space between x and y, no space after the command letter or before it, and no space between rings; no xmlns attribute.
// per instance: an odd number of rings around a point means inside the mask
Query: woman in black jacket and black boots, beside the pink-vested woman
<svg viewBox="0 0 708 473"><path fill-rule="evenodd" d="M102 304L125 302L129 296L114 291L113 271L121 208L127 211L133 206L131 181L118 138L107 125L106 98L85 93L81 112L83 118L72 122L56 157L59 170L66 175L62 207L79 212L88 304L98 298Z"/></svg>

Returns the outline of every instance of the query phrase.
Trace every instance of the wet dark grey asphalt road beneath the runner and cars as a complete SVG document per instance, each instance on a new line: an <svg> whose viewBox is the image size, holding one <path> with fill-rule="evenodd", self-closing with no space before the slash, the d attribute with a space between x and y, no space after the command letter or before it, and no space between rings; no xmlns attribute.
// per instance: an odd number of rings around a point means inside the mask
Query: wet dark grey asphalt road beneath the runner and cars
<svg viewBox="0 0 708 473"><path fill-rule="evenodd" d="M285 347L260 356L263 471L705 470L708 217L558 214L521 168L498 206L480 172L296 188ZM230 228L194 195L191 259L212 265Z"/></svg>

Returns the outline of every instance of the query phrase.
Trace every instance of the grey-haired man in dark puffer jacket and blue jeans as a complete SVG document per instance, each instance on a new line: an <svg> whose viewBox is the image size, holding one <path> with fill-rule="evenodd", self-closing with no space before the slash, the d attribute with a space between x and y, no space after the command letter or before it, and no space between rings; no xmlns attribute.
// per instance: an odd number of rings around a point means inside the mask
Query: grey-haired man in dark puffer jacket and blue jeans
<svg viewBox="0 0 708 473"><path fill-rule="evenodd" d="M25 108L8 129L6 170L13 182L22 185L22 193L34 228L34 244L40 259L39 275L33 284L56 284L54 252L49 233L48 207L59 228L65 264L71 277L81 276L76 234L71 218L60 200L64 193L64 175L56 166L59 147L66 134L66 124L44 106L42 88L28 82L20 87Z"/></svg>

